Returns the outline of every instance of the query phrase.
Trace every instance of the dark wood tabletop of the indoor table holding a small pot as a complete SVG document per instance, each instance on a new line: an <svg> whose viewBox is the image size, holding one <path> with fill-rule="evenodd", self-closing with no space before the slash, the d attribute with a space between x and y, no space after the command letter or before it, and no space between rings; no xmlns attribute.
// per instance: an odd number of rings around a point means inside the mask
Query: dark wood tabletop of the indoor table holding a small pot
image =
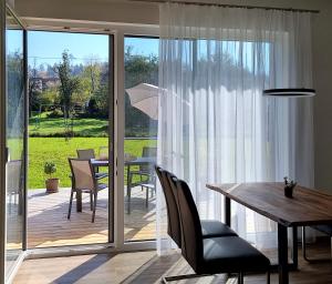
<svg viewBox="0 0 332 284"><path fill-rule="evenodd" d="M207 184L263 216L284 226L332 224L332 195L295 186L293 197L286 197L283 183Z"/></svg>

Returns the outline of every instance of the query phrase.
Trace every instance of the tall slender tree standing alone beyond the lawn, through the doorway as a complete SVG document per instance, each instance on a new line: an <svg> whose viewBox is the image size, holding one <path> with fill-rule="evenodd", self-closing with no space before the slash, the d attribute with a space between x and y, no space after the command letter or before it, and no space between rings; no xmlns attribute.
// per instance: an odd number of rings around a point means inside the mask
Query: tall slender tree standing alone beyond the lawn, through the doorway
<svg viewBox="0 0 332 284"><path fill-rule="evenodd" d="M60 79L60 104L63 105L63 113L66 118L73 109L73 94L80 89L79 78L71 74L70 57L68 51L62 53L62 62L55 67Z"/></svg>

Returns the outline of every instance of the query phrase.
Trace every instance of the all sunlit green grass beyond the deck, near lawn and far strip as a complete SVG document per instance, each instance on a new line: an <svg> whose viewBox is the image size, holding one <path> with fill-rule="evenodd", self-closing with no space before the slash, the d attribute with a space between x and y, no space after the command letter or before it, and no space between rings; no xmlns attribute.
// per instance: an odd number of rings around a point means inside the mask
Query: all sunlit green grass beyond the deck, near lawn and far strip
<svg viewBox="0 0 332 284"><path fill-rule="evenodd" d="M74 138L64 139L63 118L49 118L50 112L29 120L29 189L44 189L44 163L52 161L56 165L54 178L60 179L61 187L71 186L69 158L76 158L77 149L94 149L96 155L100 146L107 146L107 120L84 118L73 121ZM14 142L14 141L13 141ZM155 146L155 140L125 140L125 153L142 155L143 146ZM102 169L101 169L102 170ZM104 169L106 170L106 169Z"/></svg>

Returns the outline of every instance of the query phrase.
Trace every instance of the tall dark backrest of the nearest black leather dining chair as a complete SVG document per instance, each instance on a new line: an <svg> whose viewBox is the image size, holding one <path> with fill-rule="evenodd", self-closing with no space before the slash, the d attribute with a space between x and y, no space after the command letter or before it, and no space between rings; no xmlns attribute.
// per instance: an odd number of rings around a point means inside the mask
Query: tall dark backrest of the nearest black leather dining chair
<svg viewBox="0 0 332 284"><path fill-rule="evenodd" d="M176 180L181 224L181 254L198 273L203 260L203 234L200 219L190 189L185 181Z"/></svg>

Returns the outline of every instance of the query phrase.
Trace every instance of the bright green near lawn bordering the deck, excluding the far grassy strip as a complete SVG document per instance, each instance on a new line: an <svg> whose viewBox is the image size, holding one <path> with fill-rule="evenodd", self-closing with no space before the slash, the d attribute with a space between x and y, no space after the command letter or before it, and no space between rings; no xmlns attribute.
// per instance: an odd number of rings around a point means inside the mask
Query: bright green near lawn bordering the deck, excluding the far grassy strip
<svg viewBox="0 0 332 284"><path fill-rule="evenodd" d="M43 166L45 161L56 164L56 178L60 186L71 186L69 179L70 168L68 158L76 156L76 149L94 149L98 153L100 146L107 145L107 138L74 138L65 141L64 138L30 138L29 139L29 189L45 187ZM156 145L155 140L126 140L125 153L135 156L142 155L145 145Z"/></svg>

